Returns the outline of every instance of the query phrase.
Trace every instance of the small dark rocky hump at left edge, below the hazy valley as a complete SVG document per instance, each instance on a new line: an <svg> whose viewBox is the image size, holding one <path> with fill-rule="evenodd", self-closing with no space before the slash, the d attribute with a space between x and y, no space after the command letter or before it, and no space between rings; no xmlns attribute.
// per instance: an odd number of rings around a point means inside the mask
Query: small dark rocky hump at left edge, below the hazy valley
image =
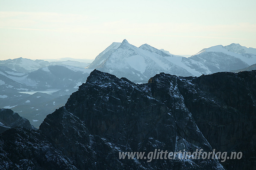
<svg viewBox="0 0 256 170"><path fill-rule="evenodd" d="M13 112L11 109L0 109L0 133L15 127L36 130L36 128L30 124L29 120L20 117L19 114Z"/></svg>

